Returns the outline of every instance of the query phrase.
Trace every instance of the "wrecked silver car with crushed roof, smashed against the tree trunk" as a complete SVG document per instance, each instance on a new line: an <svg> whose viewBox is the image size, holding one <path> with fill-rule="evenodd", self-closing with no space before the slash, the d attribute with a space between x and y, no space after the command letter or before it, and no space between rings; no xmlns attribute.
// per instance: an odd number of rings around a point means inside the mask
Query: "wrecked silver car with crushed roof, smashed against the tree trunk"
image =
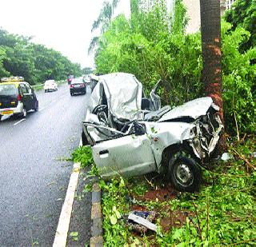
<svg viewBox="0 0 256 247"><path fill-rule="evenodd" d="M209 97L161 107L159 83L146 98L132 74L99 78L82 122L102 177L164 173L180 191L198 189L200 164L214 153L222 133L218 106Z"/></svg>

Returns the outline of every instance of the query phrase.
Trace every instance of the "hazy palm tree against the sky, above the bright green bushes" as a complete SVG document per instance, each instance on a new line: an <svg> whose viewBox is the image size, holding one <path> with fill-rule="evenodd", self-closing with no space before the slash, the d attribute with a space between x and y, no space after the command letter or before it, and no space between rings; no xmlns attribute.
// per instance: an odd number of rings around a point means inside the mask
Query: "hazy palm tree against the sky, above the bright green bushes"
<svg viewBox="0 0 256 247"><path fill-rule="evenodd" d="M94 21L91 32L101 27L101 34L103 34L108 29L111 18L114 15L114 9L118 6L119 1L120 0L113 0L112 3L106 1L103 2L102 10L98 15L98 18ZM98 45L98 38L99 37L96 36L91 39L90 47L88 49L89 53Z"/></svg>

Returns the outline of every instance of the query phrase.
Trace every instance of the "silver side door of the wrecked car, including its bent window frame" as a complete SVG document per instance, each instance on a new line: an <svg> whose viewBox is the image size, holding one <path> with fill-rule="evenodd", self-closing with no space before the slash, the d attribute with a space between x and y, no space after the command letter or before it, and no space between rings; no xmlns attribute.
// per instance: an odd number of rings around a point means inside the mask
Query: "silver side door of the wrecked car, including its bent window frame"
<svg viewBox="0 0 256 247"><path fill-rule="evenodd" d="M91 123L84 123L83 129L102 177L131 177L156 170L151 141L146 133L125 135L116 129Z"/></svg>

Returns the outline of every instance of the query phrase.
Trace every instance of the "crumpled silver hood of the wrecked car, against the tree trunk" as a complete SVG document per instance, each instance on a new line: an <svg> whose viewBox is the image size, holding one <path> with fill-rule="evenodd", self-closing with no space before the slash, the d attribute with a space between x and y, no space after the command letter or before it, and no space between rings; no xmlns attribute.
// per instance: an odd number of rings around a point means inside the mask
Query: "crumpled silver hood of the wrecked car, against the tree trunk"
<svg viewBox="0 0 256 247"><path fill-rule="evenodd" d="M218 106L215 106L212 98L203 97L197 98L193 101L186 102L182 106L177 106L173 110L170 110L158 120L158 122L168 122L176 118L193 118L205 115L210 106L214 106L214 109L218 110Z"/></svg>

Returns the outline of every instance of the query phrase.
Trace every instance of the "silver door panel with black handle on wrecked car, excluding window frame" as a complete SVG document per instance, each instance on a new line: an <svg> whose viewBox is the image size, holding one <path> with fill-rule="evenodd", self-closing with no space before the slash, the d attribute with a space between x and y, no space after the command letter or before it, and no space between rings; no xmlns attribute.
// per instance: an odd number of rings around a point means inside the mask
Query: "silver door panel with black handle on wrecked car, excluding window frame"
<svg viewBox="0 0 256 247"><path fill-rule="evenodd" d="M118 142L118 145L117 145ZM102 177L138 176L156 170L151 141L146 135L129 135L94 145L93 156ZM108 153L102 153L108 150Z"/></svg>

